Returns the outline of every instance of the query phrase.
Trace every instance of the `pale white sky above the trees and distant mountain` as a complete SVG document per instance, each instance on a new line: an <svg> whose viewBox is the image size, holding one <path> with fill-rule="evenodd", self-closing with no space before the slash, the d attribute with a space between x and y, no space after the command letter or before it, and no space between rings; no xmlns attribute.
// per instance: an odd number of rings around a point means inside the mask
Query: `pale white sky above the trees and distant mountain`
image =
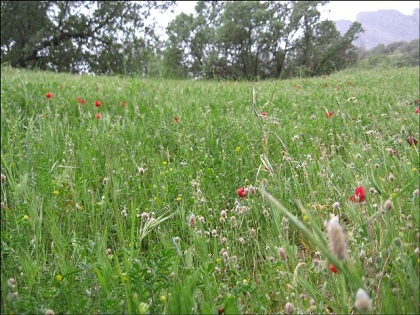
<svg viewBox="0 0 420 315"><path fill-rule="evenodd" d="M181 12L193 13L196 1L177 1L178 6L173 16ZM402 14L411 15L419 8L419 1L330 1L321 11L322 19L355 21L359 12L394 9ZM328 10L331 12L328 13ZM171 20L172 17L169 19ZM166 19L165 19L166 20ZM167 20L169 22L169 20Z"/></svg>

